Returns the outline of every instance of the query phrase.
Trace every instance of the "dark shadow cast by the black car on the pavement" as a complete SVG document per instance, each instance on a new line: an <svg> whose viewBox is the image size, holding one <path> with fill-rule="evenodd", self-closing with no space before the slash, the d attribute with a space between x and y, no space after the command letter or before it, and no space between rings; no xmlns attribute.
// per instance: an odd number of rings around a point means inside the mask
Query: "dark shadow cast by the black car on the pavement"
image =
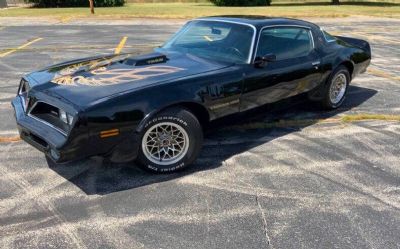
<svg viewBox="0 0 400 249"><path fill-rule="evenodd" d="M213 122L205 132L204 146L198 160L188 169L177 173L154 174L141 170L134 163L108 163L100 158L90 158L62 165L49 163L49 167L88 195L106 195L161 183L195 172L218 168L225 160L234 155L317 122L312 120L327 119L353 109L376 93L377 91L373 89L350 86L348 98L338 110L321 111L315 103L305 101L304 96L299 96L289 101L263 106L245 114ZM252 125L270 124L278 120L309 120L309 122L300 122L300 125L289 125L288 127Z"/></svg>

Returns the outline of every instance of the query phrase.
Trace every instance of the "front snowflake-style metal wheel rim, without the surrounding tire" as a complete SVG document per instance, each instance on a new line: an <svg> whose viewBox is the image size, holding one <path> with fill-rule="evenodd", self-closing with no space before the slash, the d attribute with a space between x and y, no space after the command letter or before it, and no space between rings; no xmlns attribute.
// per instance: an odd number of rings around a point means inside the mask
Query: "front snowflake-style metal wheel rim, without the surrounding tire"
<svg viewBox="0 0 400 249"><path fill-rule="evenodd" d="M162 122L150 127L142 139L143 154L159 165L180 161L189 148L189 136L178 124Z"/></svg>

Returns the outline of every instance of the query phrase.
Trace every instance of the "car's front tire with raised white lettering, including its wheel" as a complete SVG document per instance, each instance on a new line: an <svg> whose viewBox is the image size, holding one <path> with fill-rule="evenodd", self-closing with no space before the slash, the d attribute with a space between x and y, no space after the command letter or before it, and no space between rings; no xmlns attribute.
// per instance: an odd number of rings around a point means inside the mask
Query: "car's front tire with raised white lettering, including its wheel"
<svg viewBox="0 0 400 249"><path fill-rule="evenodd" d="M203 131L190 111L175 107L148 120L139 141L139 165L151 172L171 173L196 160Z"/></svg>

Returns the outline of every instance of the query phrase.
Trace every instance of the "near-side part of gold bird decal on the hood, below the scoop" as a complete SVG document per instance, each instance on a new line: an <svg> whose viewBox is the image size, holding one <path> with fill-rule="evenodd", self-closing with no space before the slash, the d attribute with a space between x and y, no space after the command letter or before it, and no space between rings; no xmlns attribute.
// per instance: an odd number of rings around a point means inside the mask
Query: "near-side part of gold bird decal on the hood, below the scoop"
<svg viewBox="0 0 400 249"><path fill-rule="evenodd" d="M51 82L59 85L87 85L87 86L103 86L112 84L129 83L135 80L143 80L149 77L155 77L165 74L176 73L183 68L172 67L172 66L146 66L138 68L107 68L105 66L98 67L84 74L88 76L78 75L74 76L71 71L75 70L65 70L63 72L57 73ZM66 72L69 71L69 72Z"/></svg>

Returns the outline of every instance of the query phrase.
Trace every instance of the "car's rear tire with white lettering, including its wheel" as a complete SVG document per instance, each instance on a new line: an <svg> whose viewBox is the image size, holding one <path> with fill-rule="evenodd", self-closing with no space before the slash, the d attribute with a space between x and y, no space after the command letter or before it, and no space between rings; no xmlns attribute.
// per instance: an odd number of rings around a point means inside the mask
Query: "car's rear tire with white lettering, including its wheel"
<svg viewBox="0 0 400 249"><path fill-rule="evenodd" d="M322 107L324 109L333 110L341 106L346 98L349 83L349 70L345 66L339 66L328 78L328 82L322 94L322 100L320 101ZM341 84L342 86L339 87L337 84ZM337 93L336 98L334 98L335 93Z"/></svg>

